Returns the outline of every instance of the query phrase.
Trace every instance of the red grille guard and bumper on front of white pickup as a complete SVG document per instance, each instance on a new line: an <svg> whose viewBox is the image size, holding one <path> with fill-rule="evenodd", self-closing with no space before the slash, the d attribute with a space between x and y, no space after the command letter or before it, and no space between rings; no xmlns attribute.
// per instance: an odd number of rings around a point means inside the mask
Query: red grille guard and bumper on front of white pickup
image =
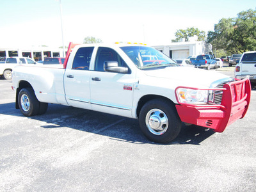
<svg viewBox="0 0 256 192"><path fill-rule="evenodd" d="M182 122L223 132L228 125L244 117L251 97L249 79L236 79L224 84L223 88L207 90L223 90L221 104L191 105L180 103L177 99L179 104L176 105L176 109Z"/></svg>

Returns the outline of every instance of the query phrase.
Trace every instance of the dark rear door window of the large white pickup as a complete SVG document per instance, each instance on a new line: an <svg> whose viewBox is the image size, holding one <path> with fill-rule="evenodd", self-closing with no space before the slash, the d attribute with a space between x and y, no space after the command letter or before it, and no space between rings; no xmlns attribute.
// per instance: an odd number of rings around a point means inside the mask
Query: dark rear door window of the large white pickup
<svg viewBox="0 0 256 192"><path fill-rule="evenodd" d="M72 69L89 70L94 47L81 47L77 50Z"/></svg>

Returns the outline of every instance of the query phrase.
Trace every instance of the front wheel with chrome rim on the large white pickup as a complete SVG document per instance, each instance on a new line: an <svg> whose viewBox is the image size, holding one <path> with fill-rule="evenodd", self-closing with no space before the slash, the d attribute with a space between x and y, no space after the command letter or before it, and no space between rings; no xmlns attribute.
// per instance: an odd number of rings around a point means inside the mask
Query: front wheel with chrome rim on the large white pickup
<svg viewBox="0 0 256 192"><path fill-rule="evenodd" d="M169 143L181 129L181 121L175 106L164 99L153 99L141 108L139 123L141 131L149 140Z"/></svg>

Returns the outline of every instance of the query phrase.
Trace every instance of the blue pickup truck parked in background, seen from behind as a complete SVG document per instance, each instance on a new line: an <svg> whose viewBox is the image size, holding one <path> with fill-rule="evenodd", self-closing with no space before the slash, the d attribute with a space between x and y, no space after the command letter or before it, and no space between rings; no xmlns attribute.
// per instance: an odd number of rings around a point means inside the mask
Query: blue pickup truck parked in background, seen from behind
<svg viewBox="0 0 256 192"><path fill-rule="evenodd" d="M195 60L191 60L192 65L198 68L216 68L216 60L211 54L201 54L196 57Z"/></svg>

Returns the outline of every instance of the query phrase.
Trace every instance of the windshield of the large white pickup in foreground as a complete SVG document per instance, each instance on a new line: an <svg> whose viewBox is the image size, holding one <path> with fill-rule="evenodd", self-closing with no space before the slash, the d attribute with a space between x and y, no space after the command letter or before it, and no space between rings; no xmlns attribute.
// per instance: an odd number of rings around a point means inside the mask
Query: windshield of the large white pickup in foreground
<svg viewBox="0 0 256 192"><path fill-rule="evenodd" d="M179 66L163 52L157 51L152 47L129 46L120 48L140 69Z"/></svg>

